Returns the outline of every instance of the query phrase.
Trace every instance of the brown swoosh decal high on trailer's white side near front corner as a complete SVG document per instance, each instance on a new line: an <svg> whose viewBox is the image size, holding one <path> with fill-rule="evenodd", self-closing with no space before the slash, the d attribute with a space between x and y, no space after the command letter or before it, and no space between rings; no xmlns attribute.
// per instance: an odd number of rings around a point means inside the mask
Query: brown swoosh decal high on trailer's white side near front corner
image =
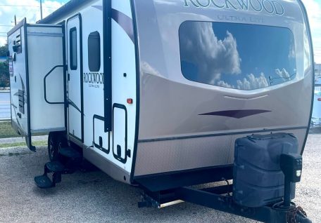
<svg viewBox="0 0 321 223"><path fill-rule="evenodd" d="M101 11L103 11L103 6L92 6L94 8L97 8ZM124 29L124 31L127 33L127 35L130 37L132 42L134 43L134 29L132 27L132 19L125 15L124 13L115 10L114 8L111 9L111 18L115 20L115 22Z"/></svg>

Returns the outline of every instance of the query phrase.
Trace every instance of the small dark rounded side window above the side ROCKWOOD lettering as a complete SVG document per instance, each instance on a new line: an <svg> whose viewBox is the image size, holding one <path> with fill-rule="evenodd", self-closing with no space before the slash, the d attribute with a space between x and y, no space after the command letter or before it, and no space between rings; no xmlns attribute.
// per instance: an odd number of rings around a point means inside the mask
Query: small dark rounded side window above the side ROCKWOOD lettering
<svg viewBox="0 0 321 223"><path fill-rule="evenodd" d="M100 35L92 32L88 36L88 67L91 72L99 72L101 65Z"/></svg>

